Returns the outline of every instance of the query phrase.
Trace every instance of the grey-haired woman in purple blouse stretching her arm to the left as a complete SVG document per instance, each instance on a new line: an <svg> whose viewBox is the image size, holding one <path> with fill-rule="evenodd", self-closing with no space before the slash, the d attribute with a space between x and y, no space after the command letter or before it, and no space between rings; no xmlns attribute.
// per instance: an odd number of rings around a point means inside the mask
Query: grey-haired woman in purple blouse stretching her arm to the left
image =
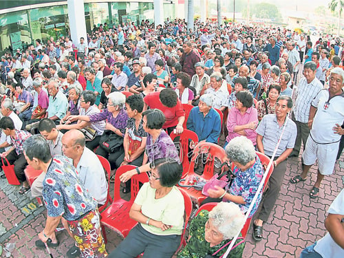
<svg viewBox="0 0 344 258"><path fill-rule="evenodd" d="M109 94L108 98L109 101L107 103L107 109L103 109L102 112L90 116L69 116L68 120L71 122L76 120L83 120L86 122L99 122L106 120L105 130L112 131L113 133L116 133L116 135L123 137L128 120L127 112L124 109L125 95L120 92L112 92ZM82 100L80 100L80 103L81 102ZM96 136L94 140L87 142L86 145L89 149L94 149L99 145L99 140L100 136ZM116 160L118 156L115 157L114 160Z"/></svg>

